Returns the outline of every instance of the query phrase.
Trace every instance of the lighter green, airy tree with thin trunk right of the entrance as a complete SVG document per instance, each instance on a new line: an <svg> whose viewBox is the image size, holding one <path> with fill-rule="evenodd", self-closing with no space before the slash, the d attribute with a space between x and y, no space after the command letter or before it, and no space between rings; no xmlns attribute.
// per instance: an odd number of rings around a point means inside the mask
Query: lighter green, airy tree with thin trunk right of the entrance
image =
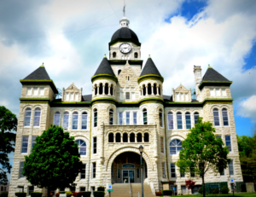
<svg viewBox="0 0 256 197"><path fill-rule="evenodd" d="M183 149L179 153L177 166L185 172L193 169L202 179L203 196L206 196L205 174L207 171L218 173L224 171L230 163L229 150L223 147L221 138L214 135L215 129L210 122L202 122L198 118L187 138L182 142Z"/></svg>

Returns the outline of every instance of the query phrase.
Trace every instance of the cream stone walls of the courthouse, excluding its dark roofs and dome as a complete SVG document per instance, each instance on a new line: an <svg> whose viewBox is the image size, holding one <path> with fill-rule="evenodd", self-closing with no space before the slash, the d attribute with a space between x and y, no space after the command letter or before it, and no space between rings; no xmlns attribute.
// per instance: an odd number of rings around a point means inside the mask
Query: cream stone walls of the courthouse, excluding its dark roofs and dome
<svg viewBox="0 0 256 197"><path fill-rule="evenodd" d="M143 166L144 169L147 167L147 171L144 171L145 174L147 172L147 176L144 174L144 182L149 183L156 191L168 188L169 184L174 184L177 186L177 194L182 194L181 187L185 185L185 180L192 178L197 185L200 185L201 179L190 177L189 174L181 177L177 166L173 172L171 164L177 161L178 154L171 154L170 144L173 140L183 141L186 138L189 133L189 129L186 129L188 114L191 127L195 125L195 113L203 117L204 121L210 121L214 125L213 109L218 109L220 123L215 126L216 134L222 137L224 143L225 136L230 136L229 157L233 160L234 175L230 175L231 168L227 168L224 175L208 172L206 183L227 182L230 187L230 177L234 177L236 182L242 182L230 86L220 87L212 84L201 88L201 67L195 67L197 101L192 99L191 90L187 90L182 84L176 90L172 90L172 97L167 96L168 99L164 100L166 97L163 96L163 81L160 78L152 75L153 77L149 76L140 80L142 78L140 77L141 65L121 61L135 60L134 52L138 53L137 60L140 60L140 46L131 42L131 52L122 55L119 51L121 43L117 42L110 46L110 65L117 80L104 76L93 80L90 101L83 100L82 89L77 88L74 84L63 89L61 100L55 99L53 86L49 84L36 85L33 84L34 82L23 84L15 159L9 187L10 197L15 196L18 187L23 187L24 191L28 192L28 188L31 186L26 181L26 177L20 177L20 162L23 162L24 156L31 152L32 136L41 135L44 130L49 128L49 125L56 123L63 127L65 125L65 131L74 136L75 140L82 140L86 143L86 153L81 155L81 161L86 164L85 178L81 178L80 175L77 177L76 191L80 191L81 188L91 190L101 185L105 186L107 183L122 183L124 169L120 175L118 175L118 169L125 166L125 163L120 163L125 162L125 158L117 158L125 153L139 155L138 147L143 145ZM116 53L115 57L113 57L113 52ZM120 63L111 64L113 59L120 60ZM101 87L102 90L100 90ZM152 90L148 87L151 87ZM42 96L40 94L30 95L27 93L29 88L44 88L44 94L42 93ZM213 90L216 92L216 96L212 96L213 93L210 91ZM220 95L218 95L218 91L221 91ZM68 96L73 94L73 99L71 97L67 99L67 93ZM77 101L75 94L79 96ZM185 95L188 97L186 98ZM184 97L177 99L176 96ZM27 109L30 109L29 112L31 112L29 123L26 119L29 116L29 113L26 113ZM39 125L35 124L38 121L35 119L37 109L40 109ZM223 124L224 117L221 113L223 109L227 110L228 125ZM55 117L57 113L60 117L59 122ZM64 118L64 113L68 114L66 118ZM79 117L76 122L77 128L73 127L73 113L77 113ZM178 116L179 113L180 116ZM85 117L86 124L82 122ZM170 125L170 119L172 119L173 125ZM178 121L180 119L181 122ZM22 143L24 136L28 136L28 142L25 144ZM22 150L24 147L27 148L26 151ZM127 158L126 162L129 160L132 159ZM135 162L134 176L137 176L136 169L138 167L138 163ZM96 170L95 175L93 168ZM130 170L133 171L133 169ZM175 177L172 177L173 173ZM138 177L134 178L136 182L139 182ZM68 189L66 188L66 190ZM34 190L42 191L41 188L34 188ZM45 196L46 189L43 189L43 192Z"/></svg>

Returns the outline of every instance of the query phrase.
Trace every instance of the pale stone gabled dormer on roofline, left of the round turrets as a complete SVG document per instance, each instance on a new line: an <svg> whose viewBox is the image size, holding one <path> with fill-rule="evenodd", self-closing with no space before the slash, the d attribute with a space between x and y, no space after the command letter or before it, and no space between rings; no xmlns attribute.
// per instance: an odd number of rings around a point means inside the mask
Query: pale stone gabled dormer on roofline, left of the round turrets
<svg viewBox="0 0 256 197"><path fill-rule="evenodd" d="M62 101L82 101L82 92L83 88L78 89L77 86L74 84L71 84L68 86L68 88L65 90L63 88L62 90Z"/></svg>

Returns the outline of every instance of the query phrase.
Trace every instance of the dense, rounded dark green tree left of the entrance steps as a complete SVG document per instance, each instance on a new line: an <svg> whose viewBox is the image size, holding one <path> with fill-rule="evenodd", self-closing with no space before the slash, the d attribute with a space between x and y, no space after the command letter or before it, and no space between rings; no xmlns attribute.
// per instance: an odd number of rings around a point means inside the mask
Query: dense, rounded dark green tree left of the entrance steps
<svg viewBox="0 0 256 197"><path fill-rule="evenodd" d="M32 154L25 156L23 175L38 188L74 186L82 168L79 146L60 126L51 125L36 138Z"/></svg>

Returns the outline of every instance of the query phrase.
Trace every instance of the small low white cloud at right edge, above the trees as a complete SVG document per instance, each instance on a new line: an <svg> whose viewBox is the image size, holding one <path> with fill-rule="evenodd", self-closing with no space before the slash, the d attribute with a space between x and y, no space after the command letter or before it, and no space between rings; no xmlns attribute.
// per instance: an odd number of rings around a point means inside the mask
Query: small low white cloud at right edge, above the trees
<svg viewBox="0 0 256 197"><path fill-rule="evenodd" d="M256 95L250 96L240 102L237 114L241 117L250 118L256 122Z"/></svg>

